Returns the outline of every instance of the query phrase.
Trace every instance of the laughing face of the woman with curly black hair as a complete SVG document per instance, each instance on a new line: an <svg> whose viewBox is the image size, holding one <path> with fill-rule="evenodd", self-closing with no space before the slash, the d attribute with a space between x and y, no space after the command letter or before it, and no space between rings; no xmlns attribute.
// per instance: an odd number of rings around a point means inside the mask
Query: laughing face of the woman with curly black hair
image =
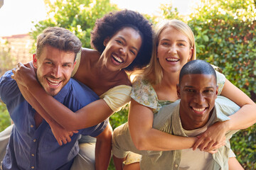
<svg viewBox="0 0 256 170"><path fill-rule="evenodd" d="M104 45L103 64L107 69L117 71L133 62L142 46L142 37L134 28L124 27L112 38L105 39Z"/></svg>

